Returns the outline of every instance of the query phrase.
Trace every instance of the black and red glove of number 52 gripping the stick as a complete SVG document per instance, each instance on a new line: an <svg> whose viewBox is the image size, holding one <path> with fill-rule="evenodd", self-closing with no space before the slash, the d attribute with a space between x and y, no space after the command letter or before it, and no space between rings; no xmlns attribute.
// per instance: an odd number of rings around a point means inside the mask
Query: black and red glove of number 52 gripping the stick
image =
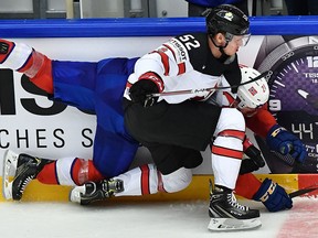
<svg viewBox="0 0 318 238"><path fill-rule="evenodd" d="M162 79L157 74L148 72L141 75L138 82L131 86L129 96L134 102L141 104L144 107L149 107L158 100L158 97L151 97L149 95L161 93L162 90Z"/></svg>

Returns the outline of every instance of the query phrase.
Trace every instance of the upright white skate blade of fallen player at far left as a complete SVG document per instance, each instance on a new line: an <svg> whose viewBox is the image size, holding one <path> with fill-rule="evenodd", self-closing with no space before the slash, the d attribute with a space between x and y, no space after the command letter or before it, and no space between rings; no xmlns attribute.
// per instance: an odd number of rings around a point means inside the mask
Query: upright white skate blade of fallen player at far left
<svg viewBox="0 0 318 238"><path fill-rule="evenodd" d="M4 152L2 164L2 196L6 199L12 199L12 182L10 182L10 175L17 171L18 156L19 154L10 150Z"/></svg>

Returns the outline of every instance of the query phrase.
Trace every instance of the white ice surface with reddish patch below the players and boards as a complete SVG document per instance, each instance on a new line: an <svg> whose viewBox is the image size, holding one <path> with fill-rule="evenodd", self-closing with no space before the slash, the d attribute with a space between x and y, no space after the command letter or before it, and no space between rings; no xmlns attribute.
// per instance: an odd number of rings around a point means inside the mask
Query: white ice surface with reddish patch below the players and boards
<svg viewBox="0 0 318 238"><path fill-rule="evenodd" d="M255 230L206 229L208 202L120 202L94 206L71 203L0 203L0 237L6 238L293 238L318 237L318 199L294 198L294 208L268 213L261 203L263 226Z"/></svg>

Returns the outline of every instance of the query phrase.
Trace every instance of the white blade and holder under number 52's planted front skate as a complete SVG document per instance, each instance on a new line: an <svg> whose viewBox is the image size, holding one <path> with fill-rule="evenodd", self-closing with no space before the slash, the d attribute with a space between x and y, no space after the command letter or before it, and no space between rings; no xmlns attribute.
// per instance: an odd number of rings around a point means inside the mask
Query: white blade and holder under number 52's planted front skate
<svg viewBox="0 0 318 238"><path fill-rule="evenodd" d="M259 218L235 219L235 218L211 218L208 226L213 231L231 231L255 229L262 226Z"/></svg>

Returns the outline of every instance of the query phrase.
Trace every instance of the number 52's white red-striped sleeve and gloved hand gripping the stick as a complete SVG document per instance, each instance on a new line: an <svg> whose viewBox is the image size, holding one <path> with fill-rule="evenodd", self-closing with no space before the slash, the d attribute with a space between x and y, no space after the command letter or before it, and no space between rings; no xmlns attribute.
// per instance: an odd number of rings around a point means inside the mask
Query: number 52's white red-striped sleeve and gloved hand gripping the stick
<svg viewBox="0 0 318 238"><path fill-rule="evenodd" d="M127 84L129 96L134 102L150 106L158 98L147 98L147 95L163 91L166 77L181 75L190 69L188 50L177 37L171 39L136 62L134 75Z"/></svg>

